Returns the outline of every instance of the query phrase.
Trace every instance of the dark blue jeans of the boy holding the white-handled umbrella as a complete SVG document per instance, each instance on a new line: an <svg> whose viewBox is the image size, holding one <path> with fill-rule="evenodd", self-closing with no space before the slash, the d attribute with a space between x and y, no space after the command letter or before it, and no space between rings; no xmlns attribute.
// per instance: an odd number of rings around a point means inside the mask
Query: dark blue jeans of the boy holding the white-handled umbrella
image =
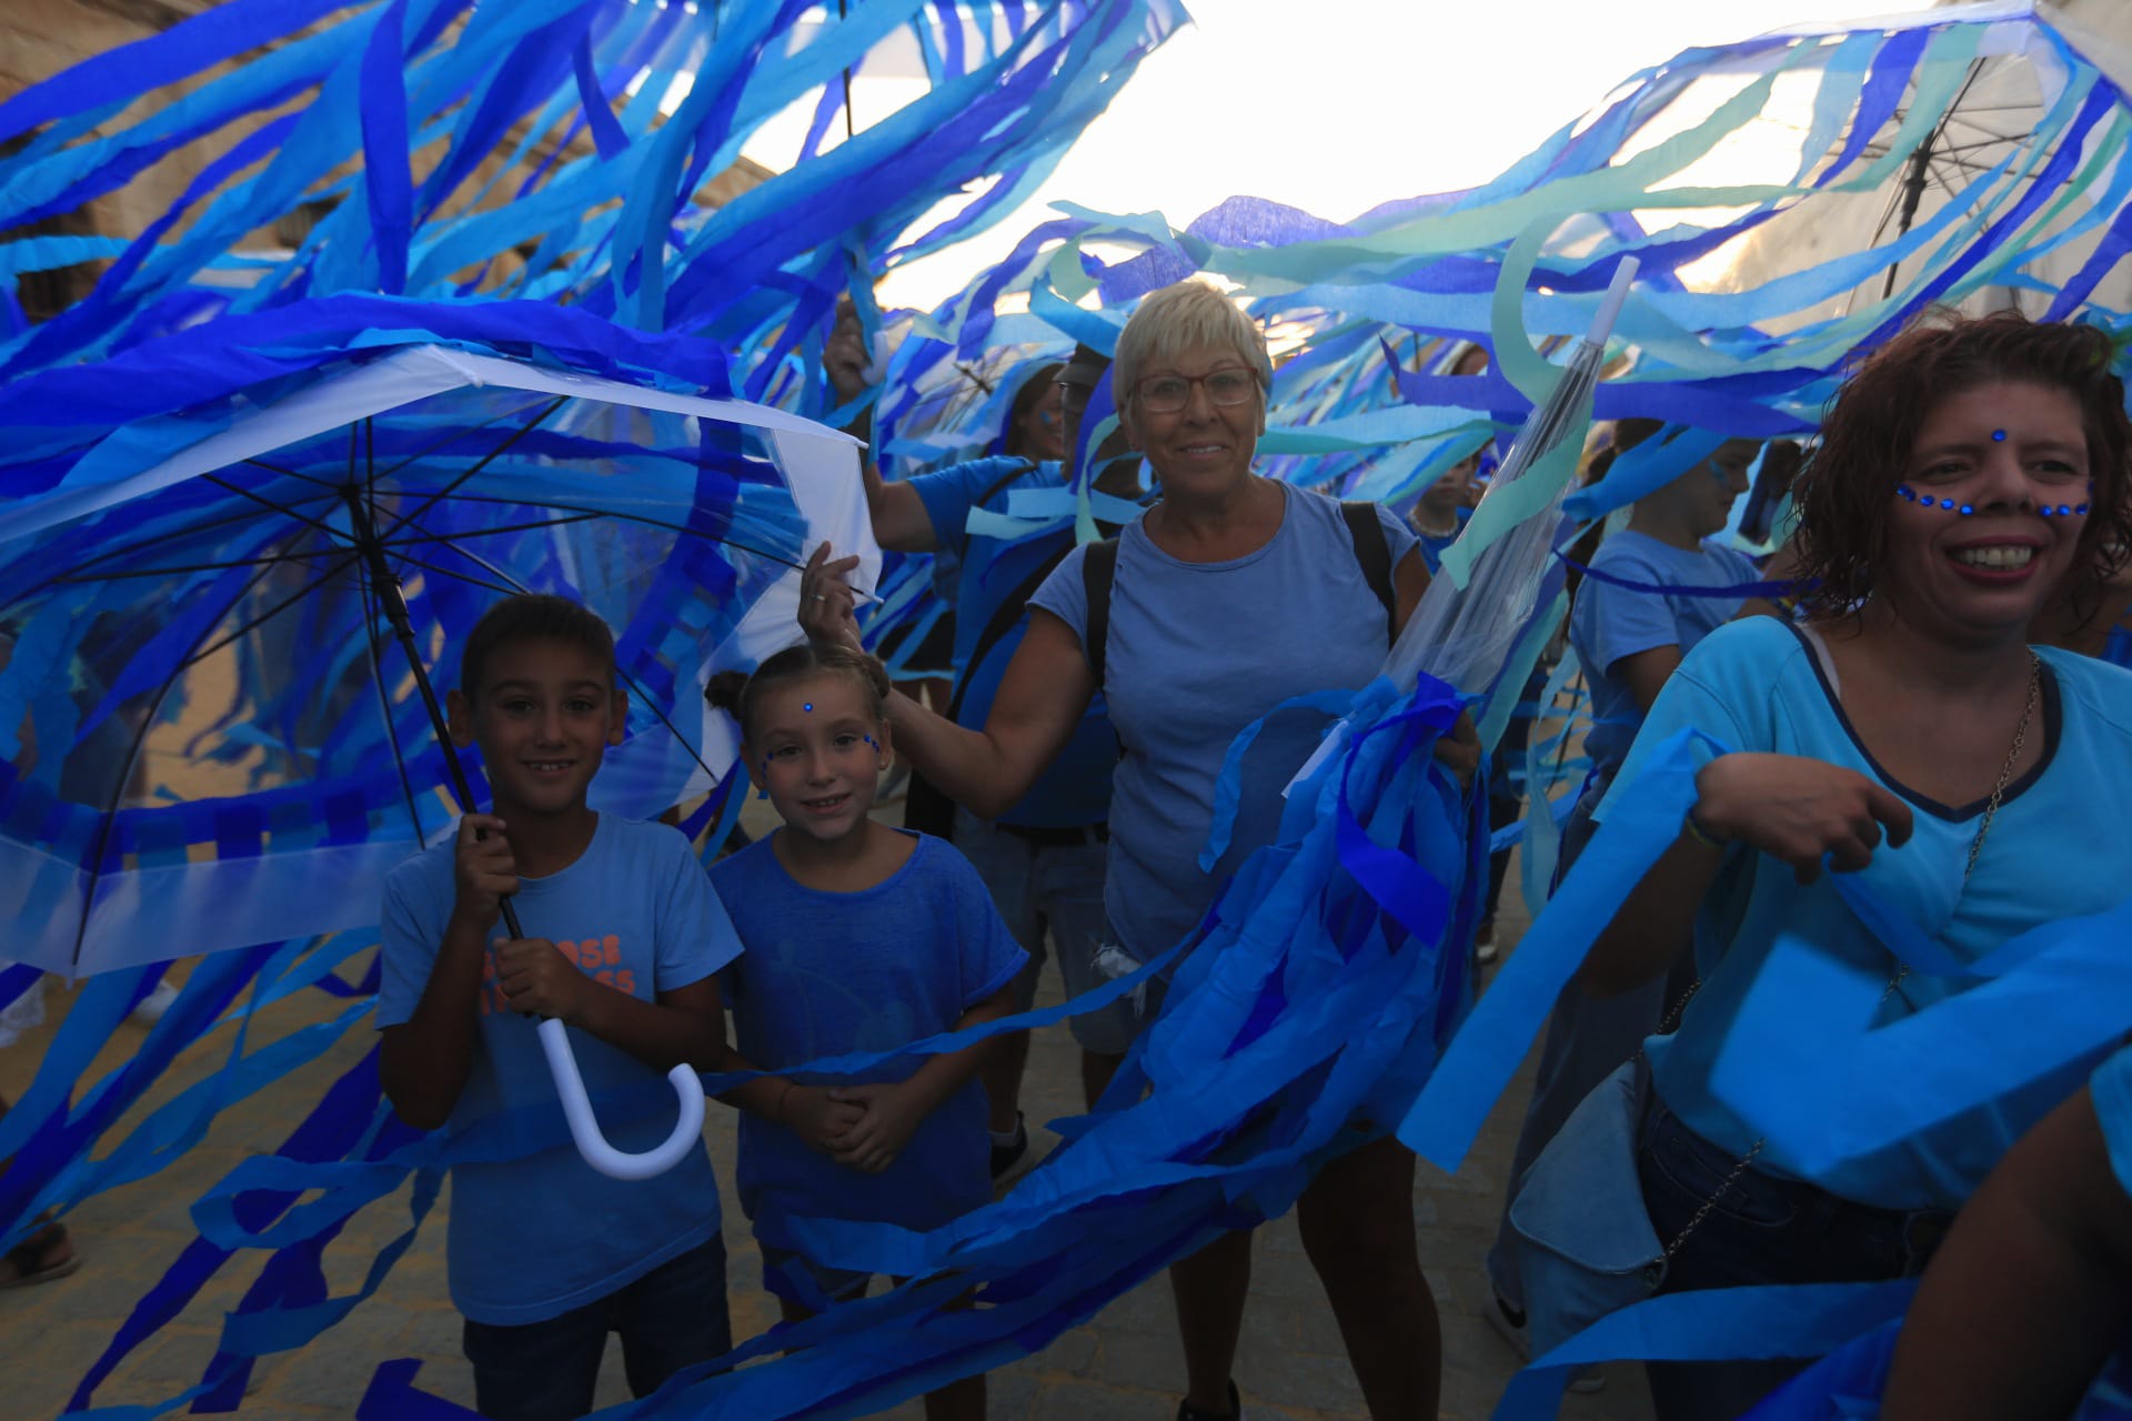
<svg viewBox="0 0 2132 1421"><path fill-rule="evenodd" d="M574 1421L593 1410L608 1334L623 1336L631 1395L733 1351L725 1310L725 1240L716 1234L642 1278L561 1317L518 1327L467 1319L473 1400L490 1421Z"/></svg>

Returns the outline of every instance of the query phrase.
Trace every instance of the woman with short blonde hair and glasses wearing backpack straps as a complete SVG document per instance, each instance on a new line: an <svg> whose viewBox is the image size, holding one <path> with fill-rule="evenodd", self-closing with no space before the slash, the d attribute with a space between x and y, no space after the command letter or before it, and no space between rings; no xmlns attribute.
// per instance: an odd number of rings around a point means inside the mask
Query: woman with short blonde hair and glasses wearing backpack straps
<svg viewBox="0 0 2132 1421"><path fill-rule="evenodd" d="M1264 334L1213 285L1183 281L1147 296L1119 334L1111 388L1162 501L1111 545L1102 631L1085 567L1104 545L1085 543L1032 599L983 731L908 699L891 705L898 744L919 769L974 812L998 814L1104 697L1124 744L1104 899L1109 942L1128 959L1185 940L1234 867L1273 842L1279 790L1320 744L1324 718L1269 712L1369 684L1428 586L1414 535L1390 511L1352 516L1251 469L1271 386ZM800 616L812 639L857 637L844 582L853 565L827 548L810 558ZM1228 854L1205 871L1198 854L1224 756L1262 716L1241 765ZM1469 729L1437 754L1471 778ZM1414 1155L1388 1125L1358 1121L1356 1148L1318 1172L1296 1212L1371 1415L1407 1421L1437 1415L1441 1351L1414 1236ZM1234 1417L1251 1236L1220 1236L1175 1263L1170 1283L1185 1357L1179 1421Z"/></svg>

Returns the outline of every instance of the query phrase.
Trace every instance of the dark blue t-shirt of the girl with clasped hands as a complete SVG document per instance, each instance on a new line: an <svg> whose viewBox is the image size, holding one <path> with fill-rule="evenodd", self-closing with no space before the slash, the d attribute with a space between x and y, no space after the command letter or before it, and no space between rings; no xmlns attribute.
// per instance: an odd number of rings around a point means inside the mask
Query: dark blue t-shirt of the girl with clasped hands
<svg viewBox="0 0 2132 1421"><path fill-rule="evenodd" d="M863 893L802 886L772 839L712 865L748 946L725 974L725 999L750 1065L782 1072L953 1031L1030 961L970 861L915 837L904 867ZM925 1061L898 1057L861 1080L906 1080ZM846 1170L782 1125L742 1114L736 1178L755 1236L780 1248L797 1246L785 1231L795 1214L938 1227L991 1199L985 1087L972 1078L942 1101L881 1174Z"/></svg>

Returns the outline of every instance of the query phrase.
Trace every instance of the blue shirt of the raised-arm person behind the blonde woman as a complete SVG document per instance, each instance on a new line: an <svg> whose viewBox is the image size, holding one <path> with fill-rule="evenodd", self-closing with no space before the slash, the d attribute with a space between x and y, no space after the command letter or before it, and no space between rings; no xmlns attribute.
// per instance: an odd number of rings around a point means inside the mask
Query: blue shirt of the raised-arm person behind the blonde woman
<svg viewBox="0 0 2132 1421"><path fill-rule="evenodd" d="M1017 471L1021 471L1019 477L1011 477ZM1013 597L1038 567L1072 548L1075 535L1072 528L1057 528L1021 541L972 537L966 528L970 509L1006 513L1013 490L1066 488L1066 473L1057 462L1030 464L1025 458L1000 456L921 473L910 479L910 488L925 503L925 516L932 520L942 552L962 560L962 579L955 592L955 673L964 686L955 722L981 731L985 716L991 714L991 697L1000 692L1000 677L1006 673L1006 663L1015 658L1015 648L1021 646L1030 618L1023 611L1013 628L991 643L985 660L970 665L976 639L991 624L1000 603ZM1117 733L1111 729L1111 716L1098 695L1089 701L1087 714L1081 716L1066 748L1036 778L1030 793L1000 816L1000 822L1032 829L1100 824L1111 814L1113 765L1117 765Z"/></svg>

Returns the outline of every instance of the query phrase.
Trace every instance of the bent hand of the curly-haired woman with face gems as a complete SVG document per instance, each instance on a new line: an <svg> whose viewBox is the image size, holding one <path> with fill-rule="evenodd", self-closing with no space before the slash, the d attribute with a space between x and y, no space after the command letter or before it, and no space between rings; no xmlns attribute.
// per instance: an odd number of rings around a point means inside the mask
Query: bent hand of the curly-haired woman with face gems
<svg viewBox="0 0 2132 1421"><path fill-rule="evenodd" d="M1782 859L1802 884L1910 839L1910 805L1878 780L1797 754L1721 754L1695 775L1695 827ZM1885 833L1883 833L1885 829Z"/></svg>

